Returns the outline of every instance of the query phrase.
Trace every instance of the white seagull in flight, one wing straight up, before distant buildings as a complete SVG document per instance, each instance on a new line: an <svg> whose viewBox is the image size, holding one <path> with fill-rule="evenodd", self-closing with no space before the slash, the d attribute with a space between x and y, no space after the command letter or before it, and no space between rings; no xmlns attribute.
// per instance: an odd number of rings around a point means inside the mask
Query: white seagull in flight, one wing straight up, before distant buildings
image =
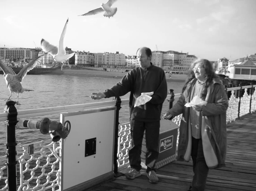
<svg viewBox="0 0 256 191"><path fill-rule="evenodd" d="M44 39L41 40L42 50L50 53L53 56L53 60L55 60L56 62L62 63L61 70L64 65L64 60L70 59L76 53L76 52L73 52L71 54L66 54L66 51L64 48L64 38L65 38L65 34L67 31L67 27L68 27L68 22L69 22L69 19L67 19L67 22L63 28L62 33L61 33L60 41L59 41L59 48L56 46L53 46L52 44L50 44L49 42L47 42ZM68 63L68 65L69 65L69 63ZM70 65L69 65L69 67L70 67Z"/></svg>

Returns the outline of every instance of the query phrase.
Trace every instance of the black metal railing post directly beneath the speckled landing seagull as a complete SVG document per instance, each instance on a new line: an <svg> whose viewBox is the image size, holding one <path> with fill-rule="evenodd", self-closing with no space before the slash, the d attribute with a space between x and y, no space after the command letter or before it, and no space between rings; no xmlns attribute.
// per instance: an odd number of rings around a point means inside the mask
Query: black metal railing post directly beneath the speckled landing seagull
<svg viewBox="0 0 256 191"><path fill-rule="evenodd" d="M6 123L6 154L7 154L7 177L8 177L8 191L17 191L17 168L16 165L16 134L15 134L15 125L17 124L17 109L14 106L15 101L7 101L5 107L5 112L8 113Z"/></svg>

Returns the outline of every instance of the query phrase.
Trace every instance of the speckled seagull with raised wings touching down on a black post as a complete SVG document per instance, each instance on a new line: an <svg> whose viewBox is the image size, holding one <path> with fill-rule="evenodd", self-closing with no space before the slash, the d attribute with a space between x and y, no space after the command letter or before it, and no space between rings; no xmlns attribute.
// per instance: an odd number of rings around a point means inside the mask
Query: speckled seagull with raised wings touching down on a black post
<svg viewBox="0 0 256 191"><path fill-rule="evenodd" d="M35 60L32 60L31 62L29 62L27 64L27 66L25 66L23 69L21 69L19 71L18 74L15 74L15 72L9 66L7 66L7 64L4 62L4 60L2 58L0 58L0 68L3 70L3 73L4 73L3 77L5 78L7 87L10 90L10 97L7 100L10 100L11 93L15 92L18 94L16 104L20 105L19 93L23 93L24 91L34 91L34 90L29 90L29 89L23 88L21 86L21 82L22 82L23 78L27 75L27 72L29 70L32 70L36 66L36 64L38 64L39 61L41 61L41 59L44 55L45 54L43 54L42 56L39 56Z"/></svg>

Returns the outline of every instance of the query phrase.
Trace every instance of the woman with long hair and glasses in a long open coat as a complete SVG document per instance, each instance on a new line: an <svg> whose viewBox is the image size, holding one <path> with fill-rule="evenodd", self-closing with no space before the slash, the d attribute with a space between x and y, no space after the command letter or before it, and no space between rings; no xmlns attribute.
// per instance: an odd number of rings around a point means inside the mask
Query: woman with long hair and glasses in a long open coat
<svg viewBox="0 0 256 191"><path fill-rule="evenodd" d="M185 107L198 96L207 103ZM193 160L193 181L189 191L204 190L209 169L225 165L227 148L226 110L228 97L209 60L192 64L177 103L163 119L182 113L179 129L178 160Z"/></svg>

